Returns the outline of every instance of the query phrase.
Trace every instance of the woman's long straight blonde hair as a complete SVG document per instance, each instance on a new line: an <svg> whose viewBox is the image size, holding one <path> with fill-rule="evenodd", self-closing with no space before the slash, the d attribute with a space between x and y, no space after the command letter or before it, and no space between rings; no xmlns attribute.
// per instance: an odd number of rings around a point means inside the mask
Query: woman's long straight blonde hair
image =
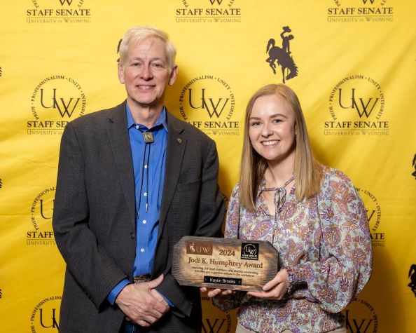
<svg viewBox="0 0 416 333"><path fill-rule="evenodd" d="M240 204L247 210L256 207L258 188L264 177L268 163L253 148L249 137L249 119L254 102L261 96L279 95L286 100L295 115L296 124L296 157L295 157L295 184L296 201L309 198L319 191L322 170L321 165L314 159L310 147L309 137L303 112L296 93L284 84L269 84L254 93L246 108L244 120L244 141L242 148L240 170Z"/></svg>

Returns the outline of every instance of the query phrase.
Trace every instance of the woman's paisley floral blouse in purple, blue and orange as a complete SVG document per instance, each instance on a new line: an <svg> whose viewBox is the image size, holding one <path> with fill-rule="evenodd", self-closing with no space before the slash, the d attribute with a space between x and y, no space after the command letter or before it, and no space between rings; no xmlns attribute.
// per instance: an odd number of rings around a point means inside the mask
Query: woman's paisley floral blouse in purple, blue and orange
<svg viewBox="0 0 416 333"><path fill-rule="evenodd" d="M264 300L245 292L214 297L216 306L240 306L238 321L256 332L326 332L341 327L340 311L370 278L372 251L366 208L351 180L324 167L319 193L300 203L292 187L282 212L269 215L258 191L256 211L240 206L237 184L228 204L226 238L268 240L289 273L291 294Z"/></svg>

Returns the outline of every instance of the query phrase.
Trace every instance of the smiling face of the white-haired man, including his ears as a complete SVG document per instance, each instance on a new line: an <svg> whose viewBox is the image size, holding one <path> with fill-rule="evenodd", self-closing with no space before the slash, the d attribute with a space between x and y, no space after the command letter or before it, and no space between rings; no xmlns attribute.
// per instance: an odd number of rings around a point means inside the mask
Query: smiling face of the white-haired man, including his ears
<svg viewBox="0 0 416 333"><path fill-rule="evenodd" d="M130 43L123 65L118 65L118 79L125 84L130 107L161 107L167 85L176 79L177 67L169 74L165 45L148 38Z"/></svg>

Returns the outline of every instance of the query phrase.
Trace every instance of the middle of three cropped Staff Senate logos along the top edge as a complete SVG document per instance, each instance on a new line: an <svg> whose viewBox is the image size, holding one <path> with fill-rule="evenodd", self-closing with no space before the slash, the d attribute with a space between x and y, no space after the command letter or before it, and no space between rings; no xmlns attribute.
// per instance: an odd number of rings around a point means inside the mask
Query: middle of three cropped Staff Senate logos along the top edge
<svg viewBox="0 0 416 333"><path fill-rule="evenodd" d="M237 0L181 0L176 8L176 23L240 23Z"/></svg>

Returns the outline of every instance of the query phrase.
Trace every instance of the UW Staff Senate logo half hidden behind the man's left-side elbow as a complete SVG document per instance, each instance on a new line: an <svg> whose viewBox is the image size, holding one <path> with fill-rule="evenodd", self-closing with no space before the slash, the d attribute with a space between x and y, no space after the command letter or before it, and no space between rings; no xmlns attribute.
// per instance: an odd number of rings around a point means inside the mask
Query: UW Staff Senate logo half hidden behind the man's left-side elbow
<svg viewBox="0 0 416 333"><path fill-rule="evenodd" d="M26 232L27 245L55 245L52 229L55 187L48 187L39 193L30 208L33 229Z"/></svg>

